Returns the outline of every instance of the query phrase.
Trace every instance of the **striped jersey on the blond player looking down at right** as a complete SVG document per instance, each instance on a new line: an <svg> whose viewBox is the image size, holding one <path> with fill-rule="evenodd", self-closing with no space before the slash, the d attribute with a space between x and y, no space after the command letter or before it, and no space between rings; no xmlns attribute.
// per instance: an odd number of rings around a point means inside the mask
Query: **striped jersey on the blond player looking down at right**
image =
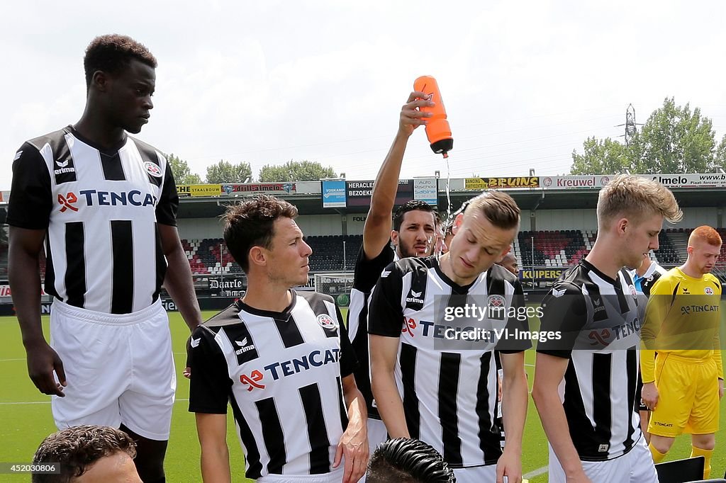
<svg viewBox="0 0 726 483"><path fill-rule="evenodd" d="M562 339L539 342L537 352L569 360L559 393L582 461L617 458L641 436L638 297L626 270L613 280L580 260L542 300L540 330Z"/></svg>

